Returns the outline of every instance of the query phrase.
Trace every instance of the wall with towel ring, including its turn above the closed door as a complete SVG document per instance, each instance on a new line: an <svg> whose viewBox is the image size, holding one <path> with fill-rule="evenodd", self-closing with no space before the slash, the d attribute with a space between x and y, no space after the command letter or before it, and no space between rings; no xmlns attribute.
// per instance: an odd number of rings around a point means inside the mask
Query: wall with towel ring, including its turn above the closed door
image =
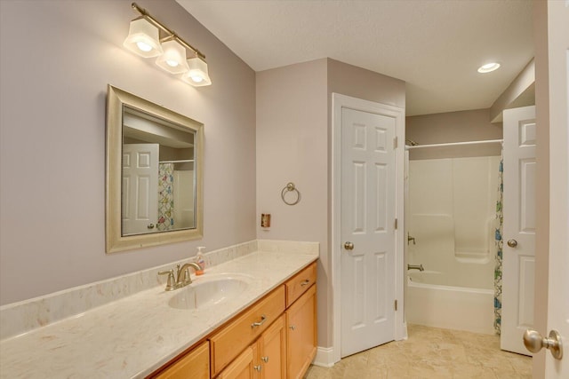
<svg viewBox="0 0 569 379"><path fill-rule="evenodd" d="M318 345L332 345L332 93L405 107L405 83L333 59L257 73L258 237L320 242ZM301 202L285 205L294 182ZM260 213L271 213L270 230Z"/></svg>

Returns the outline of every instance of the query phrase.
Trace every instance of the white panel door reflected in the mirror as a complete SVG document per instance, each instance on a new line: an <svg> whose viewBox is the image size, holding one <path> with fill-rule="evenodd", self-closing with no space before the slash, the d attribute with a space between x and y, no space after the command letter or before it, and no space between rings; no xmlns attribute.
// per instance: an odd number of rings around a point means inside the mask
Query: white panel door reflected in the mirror
<svg viewBox="0 0 569 379"><path fill-rule="evenodd" d="M158 144L123 146L123 235L156 232Z"/></svg>

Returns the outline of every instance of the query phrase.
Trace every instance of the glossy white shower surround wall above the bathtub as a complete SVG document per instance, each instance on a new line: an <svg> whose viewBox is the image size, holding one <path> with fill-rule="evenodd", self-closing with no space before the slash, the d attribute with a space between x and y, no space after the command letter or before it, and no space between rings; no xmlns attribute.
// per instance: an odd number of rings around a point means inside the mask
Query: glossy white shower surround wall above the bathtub
<svg viewBox="0 0 569 379"><path fill-rule="evenodd" d="M409 162L408 263L444 272L438 283L493 288L493 230L500 157Z"/></svg>

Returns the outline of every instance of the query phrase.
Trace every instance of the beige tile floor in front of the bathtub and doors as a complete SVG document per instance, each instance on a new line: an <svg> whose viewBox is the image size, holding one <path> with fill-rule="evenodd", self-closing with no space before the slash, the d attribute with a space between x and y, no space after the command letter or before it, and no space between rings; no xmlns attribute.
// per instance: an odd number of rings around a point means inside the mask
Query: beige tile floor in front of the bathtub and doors
<svg viewBox="0 0 569 379"><path fill-rule="evenodd" d="M498 336L407 325L409 338L311 366L305 379L528 378L532 359L500 350Z"/></svg>

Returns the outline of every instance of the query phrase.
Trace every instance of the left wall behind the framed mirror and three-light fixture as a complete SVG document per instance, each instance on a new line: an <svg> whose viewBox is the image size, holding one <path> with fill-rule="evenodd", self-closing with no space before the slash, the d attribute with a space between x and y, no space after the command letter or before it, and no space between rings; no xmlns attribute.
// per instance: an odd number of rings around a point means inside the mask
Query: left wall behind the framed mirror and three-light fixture
<svg viewBox="0 0 569 379"><path fill-rule="evenodd" d="M256 237L254 72L173 0L139 4L204 51L212 86L123 48L130 0L0 2L0 304ZM108 83L204 122L204 240L105 254Z"/></svg>

